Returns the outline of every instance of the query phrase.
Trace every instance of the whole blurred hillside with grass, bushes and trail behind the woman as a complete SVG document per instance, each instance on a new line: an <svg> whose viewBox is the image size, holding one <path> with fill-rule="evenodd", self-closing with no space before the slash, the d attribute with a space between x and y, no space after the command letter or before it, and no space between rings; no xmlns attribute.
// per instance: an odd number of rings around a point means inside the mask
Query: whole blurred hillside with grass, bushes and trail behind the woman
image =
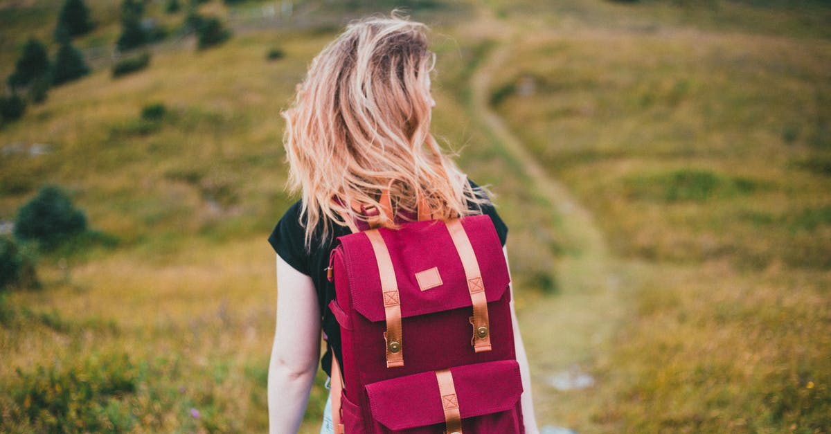
<svg viewBox="0 0 831 434"><path fill-rule="evenodd" d="M0 0L0 431L266 430L279 111L393 7L511 228L541 425L831 430L828 2Z"/></svg>

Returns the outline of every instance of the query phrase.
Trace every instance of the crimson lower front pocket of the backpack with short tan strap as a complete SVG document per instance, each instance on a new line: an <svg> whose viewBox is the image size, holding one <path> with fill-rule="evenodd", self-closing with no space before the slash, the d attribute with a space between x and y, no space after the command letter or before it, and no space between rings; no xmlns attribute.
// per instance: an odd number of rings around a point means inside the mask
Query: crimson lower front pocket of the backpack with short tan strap
<svg viewBox="0 0 831 434"><path fill-rule="evenodd" d="M420 372L366 385L376 432L445 432L460 418L465 433L523 432L519 397L522 380L515 360L451 367L452 385L440 385L436 372ZM454 416L455 415L455 416Z"/></svg>

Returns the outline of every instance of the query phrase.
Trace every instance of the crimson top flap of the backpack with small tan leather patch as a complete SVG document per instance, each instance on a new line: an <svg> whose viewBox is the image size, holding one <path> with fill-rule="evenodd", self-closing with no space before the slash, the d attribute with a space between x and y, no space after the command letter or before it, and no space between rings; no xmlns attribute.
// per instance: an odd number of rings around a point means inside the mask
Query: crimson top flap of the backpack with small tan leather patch
<svg viewBox="0 0 831 434"><path fill-rule="evenodd" d="M502 298L510 277L508 265L488 215L460 219L470 239L488 302ZM396 273L401 317L435 313L472 304L465 268L442 220L401 224L378 230ZM352 306L372 322L383 321L384 300L378 263L366 233L339 237Z"/></svg>

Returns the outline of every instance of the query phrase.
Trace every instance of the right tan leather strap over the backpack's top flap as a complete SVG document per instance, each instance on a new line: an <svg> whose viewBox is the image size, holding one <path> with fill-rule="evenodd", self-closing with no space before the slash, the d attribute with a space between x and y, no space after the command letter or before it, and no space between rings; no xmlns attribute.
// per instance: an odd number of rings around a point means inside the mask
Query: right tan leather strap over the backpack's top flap
<svg viewBox="0 0 831 434"><path fill-rule="evenodd" d="M488 298L484 293L479 261L476 260L476 254L473 251L473 246L470 245L470 239L462 226L461 220L446 220L445 224L447 225L447 231L450 232L450 238L453 239L453 244L456 246L456 251L459 253L459 258L462 260L462 265L465 267L468 292L470 292L470 301L473 303L473 316L470 317L470 323L473 324L473 338L470 340L470 344L473 345L476 353L490 351Z"/></svg>

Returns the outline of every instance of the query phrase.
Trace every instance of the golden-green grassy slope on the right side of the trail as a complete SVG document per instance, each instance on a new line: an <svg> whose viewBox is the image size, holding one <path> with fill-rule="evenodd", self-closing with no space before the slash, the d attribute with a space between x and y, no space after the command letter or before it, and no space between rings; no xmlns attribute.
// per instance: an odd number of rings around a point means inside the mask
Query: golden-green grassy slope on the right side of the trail
<svg viewBox="0 0 831 434"><path fill-rule="evenodd" d="M528 31L491 103L652 268L595 367L599 427L825 432L831 11L712 3L506 6Z"/></svg>

